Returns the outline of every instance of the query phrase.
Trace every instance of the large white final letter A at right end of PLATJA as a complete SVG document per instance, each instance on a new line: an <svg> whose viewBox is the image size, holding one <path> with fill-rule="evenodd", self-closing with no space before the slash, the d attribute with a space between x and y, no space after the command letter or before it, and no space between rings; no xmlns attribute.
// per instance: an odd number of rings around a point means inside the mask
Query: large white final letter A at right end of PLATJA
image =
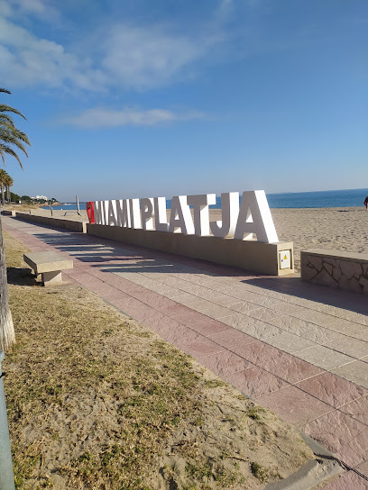
<svg viewBox="0 0 368 490"><path fill-rule="evenodd" d="M244 233L246 233L245 237ZM279 241L264 191L243 193L234 238L249 240L253 233L257 235L258 241L265 243Z"/></svg>

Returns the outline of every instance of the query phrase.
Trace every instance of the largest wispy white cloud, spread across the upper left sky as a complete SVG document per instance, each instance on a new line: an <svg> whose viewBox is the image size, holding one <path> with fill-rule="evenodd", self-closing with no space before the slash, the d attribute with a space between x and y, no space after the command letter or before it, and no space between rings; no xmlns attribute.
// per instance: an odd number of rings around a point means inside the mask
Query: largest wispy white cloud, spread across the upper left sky
<svg viewBox="0 0 368 490"><path fill-rule="evenodd" d="M223 0L224 9L227 4ZM193 77L196 63L223 41L221 30L210 23L190 36L173 25L132 25L109 18L98 32L67 46L21 26L19 13L41 20L58 15L44 0L11 0L8 8L0 8L0 77L6 86L146 90ZM24 25L30 25L29 19Z"/></svg>

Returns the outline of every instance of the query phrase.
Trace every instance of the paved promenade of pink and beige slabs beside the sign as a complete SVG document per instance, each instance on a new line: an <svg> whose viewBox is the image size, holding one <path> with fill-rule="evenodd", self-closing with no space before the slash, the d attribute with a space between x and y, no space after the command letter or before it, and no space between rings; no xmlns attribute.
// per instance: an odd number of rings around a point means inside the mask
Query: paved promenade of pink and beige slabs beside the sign
<svg viewBox="0 0 368 490"><path fill-rule="evenodd" d="M351 469L328 490L368 489L367 296L2 221L28 249L73 259L66 280L94 291L333 451Z"/></svg>

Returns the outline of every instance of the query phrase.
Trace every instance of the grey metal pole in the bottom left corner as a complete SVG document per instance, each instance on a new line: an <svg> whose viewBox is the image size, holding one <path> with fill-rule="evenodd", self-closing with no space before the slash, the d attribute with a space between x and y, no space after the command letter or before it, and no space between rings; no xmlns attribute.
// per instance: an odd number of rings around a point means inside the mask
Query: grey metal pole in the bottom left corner
<svg viewBox="0 0 368 490"><path fill-rule="evenodd" d="M10 449L9 427L6 416L5 393L3 383L3 370L1 368L4 352L0 353L0 488L2 490L15 490L12 464L12 451Z"/></svg>

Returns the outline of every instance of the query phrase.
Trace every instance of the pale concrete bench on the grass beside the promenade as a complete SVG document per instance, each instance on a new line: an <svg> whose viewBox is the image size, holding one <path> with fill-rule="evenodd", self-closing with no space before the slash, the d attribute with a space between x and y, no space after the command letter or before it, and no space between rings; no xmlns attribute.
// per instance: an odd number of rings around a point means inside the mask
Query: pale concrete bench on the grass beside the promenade
<svg viewBox="0 0 368 490"><path fill-rule="evenodd" d="M61 270L73 268L73 260L65 259L57 252L25 253L23 260L37 276L41 274L43 286L61 284Z"/></svg>

